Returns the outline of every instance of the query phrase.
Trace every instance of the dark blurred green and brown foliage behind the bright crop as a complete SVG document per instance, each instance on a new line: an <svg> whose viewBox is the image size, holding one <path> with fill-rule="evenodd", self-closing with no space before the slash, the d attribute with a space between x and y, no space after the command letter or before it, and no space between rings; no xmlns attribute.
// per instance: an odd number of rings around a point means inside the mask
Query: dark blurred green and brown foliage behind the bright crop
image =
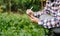
<svg viewBox="0 0 60 36"><path fill-rule="evenodd" d="M43 1L41 0L0 0L0 4L4 7L4 11L25 11L33 6L33 11L39 11L42 9ZM19 10L21 9L21 10Z"/></svg>

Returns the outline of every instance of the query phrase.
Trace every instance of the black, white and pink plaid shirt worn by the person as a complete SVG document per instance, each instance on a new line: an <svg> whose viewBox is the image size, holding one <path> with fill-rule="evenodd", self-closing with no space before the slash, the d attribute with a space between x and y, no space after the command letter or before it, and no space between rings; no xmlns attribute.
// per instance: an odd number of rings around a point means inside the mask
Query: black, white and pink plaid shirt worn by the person
<svg viewBox="0 0 60 36"><path fill-rule="evenodd" d="M46 7L43 11L35 12L34 16L39 16L43 14L50 14L54 18L51 18L49 20L39 20L38 25L42 25L45 28L54 28L54 27L60 27L60 1L55 2L46 2Z"/></svg>

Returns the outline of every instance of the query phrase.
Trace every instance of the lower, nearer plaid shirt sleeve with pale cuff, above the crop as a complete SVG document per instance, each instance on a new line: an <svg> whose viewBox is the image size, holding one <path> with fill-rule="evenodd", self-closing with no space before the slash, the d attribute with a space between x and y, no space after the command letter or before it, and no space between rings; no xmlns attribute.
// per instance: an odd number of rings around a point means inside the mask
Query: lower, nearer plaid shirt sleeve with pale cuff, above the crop
<svg viewBox="0 0 60 36"><path fill-rule="evenodd" d="M39 20L38 25L42 25L44 28L59 27L60 26L59 18L52 18L50 20Z"/></svg>

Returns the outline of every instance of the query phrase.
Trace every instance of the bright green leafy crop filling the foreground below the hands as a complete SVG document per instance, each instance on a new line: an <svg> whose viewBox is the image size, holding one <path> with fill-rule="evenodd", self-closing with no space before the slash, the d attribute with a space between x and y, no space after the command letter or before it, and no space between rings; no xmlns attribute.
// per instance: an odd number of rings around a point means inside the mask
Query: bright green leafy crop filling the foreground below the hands
<svg viewBox="0 0 60 36"><path fill-rule="evenodd" d="M0 14L0 36L45 36L44 30L32 23L26 14Z"/></svg>

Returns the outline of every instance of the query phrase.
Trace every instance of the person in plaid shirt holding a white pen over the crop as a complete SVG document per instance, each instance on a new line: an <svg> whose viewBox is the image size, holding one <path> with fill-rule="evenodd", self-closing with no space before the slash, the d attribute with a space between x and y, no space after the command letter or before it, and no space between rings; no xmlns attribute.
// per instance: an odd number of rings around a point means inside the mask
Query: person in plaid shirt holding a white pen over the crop
<svg viewBox="0 0 60 36"><path fill-rule="evenodd" d="M42 25L44 28L52 31L51 33L49 32L49 36L60 35L60 0L47 0L45 8L41 12L34 13L31 9L28 9L26 12L32 22L38 23L38 25ZM42 15L46 15L46 18L49 18L46 19L45 16L43 16L42 19Z"/></svg>

